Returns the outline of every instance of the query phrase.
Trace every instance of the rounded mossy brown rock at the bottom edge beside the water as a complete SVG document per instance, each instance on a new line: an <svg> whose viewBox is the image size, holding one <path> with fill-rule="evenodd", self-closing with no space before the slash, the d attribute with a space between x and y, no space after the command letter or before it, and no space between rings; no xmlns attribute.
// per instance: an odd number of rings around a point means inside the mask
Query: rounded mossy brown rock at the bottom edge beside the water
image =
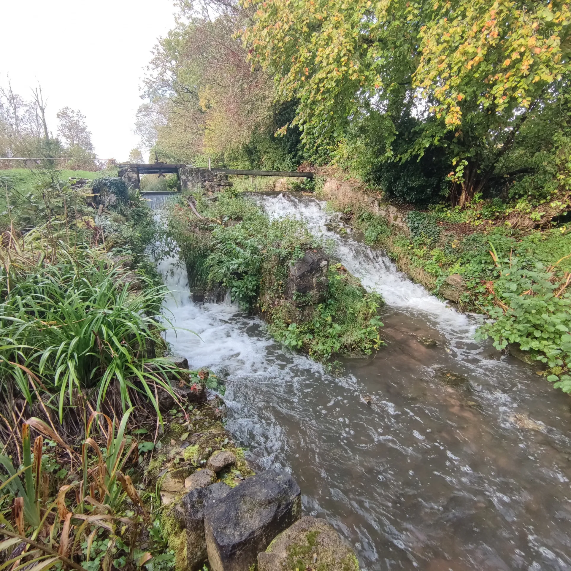
<svg viewBox="0 0 571 571"><path fill-rule="evenodd" d="M359 571L355 553L325 520L306 516L258 554L258 571Z"/></svg>

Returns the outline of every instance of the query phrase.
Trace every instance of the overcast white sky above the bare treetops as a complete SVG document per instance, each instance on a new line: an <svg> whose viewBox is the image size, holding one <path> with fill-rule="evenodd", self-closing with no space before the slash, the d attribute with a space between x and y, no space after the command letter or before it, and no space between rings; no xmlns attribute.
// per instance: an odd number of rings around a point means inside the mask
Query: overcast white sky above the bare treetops
<svg viewBox="0 0 571 571"><path fill-rule="evenodd" d="M3 0L0 85L30 98L42 85L56 112L79 109L100 158L126 160L150 51L174 25L172 0Z"/></svg>

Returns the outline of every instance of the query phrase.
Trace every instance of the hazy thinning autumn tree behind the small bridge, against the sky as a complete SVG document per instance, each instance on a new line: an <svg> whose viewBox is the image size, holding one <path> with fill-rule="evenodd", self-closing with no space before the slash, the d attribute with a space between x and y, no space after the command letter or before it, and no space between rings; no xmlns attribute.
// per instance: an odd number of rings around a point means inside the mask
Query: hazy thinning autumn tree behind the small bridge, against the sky
<svg viewBox="0 0 571 571"><path fill-rule="evenodd" d="M271 119L272 82L252 69L234 37L242 16L218 7L197 15L182 3L176 27L154 51L136 130L163 160L222 156Z"/></svg>

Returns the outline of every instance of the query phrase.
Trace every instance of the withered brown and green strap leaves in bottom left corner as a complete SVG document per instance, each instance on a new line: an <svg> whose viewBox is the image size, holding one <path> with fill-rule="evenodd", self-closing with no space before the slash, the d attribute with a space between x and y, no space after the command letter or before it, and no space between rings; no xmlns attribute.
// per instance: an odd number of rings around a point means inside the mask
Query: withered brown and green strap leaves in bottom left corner
<svg viewBox="0 0 571 571"><path fill-rule="evenodd" d="M42 569L75 566L87 571L108 568L111 562L115 568L145 565L147 571L172 569L174 553L166 550L160 522L155 519L151 524L150 514L131 480L134 471L128 461L137 448L136 441L126 433L131 411L123 415L116 432L115 422L109 417L90 417L81 458L77 455L82 481L71 471L67 483L55 493L43 466L54 461L61 464L61 457L58 459L55 453L57 445L65 448L70 458L77 453L42 420L31 418L22 424L23 469L15 471L11 460L0 455L6 471L6 475L0 475L0 489L8 492L3 494L0 513L1 534L8 537L0 545L0 550L9 554L3 555L3 562L19 561L30 566L41 561L38 565ZM91 431L96 416L106 425L106 445L102 448L96 442L100 437ZM57 444L47 440L45 451L43 438L38 436L32 451L30 428L55 439ZM89 449L94 456L88 456ZM12 517L8 516L10 511ZM141 536L145 550L141 549ZM33 549L14 549L27 541L33 542Z"/></svg>

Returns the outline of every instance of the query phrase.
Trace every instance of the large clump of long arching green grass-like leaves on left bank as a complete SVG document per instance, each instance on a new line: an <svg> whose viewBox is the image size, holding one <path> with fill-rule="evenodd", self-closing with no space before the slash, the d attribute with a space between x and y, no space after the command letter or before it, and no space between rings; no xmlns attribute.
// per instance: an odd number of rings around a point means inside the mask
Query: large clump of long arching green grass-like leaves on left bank
<svg viewBox="0 0 571 571"><path fill-rule="evenodd" d="M31 405L47 393L61 422L77 395L99 410L115 385L123 412L134 390L160 417L156 387L171 392L173 369L152 351L166 327L158 319L164 288L149 287L89 248L61 244L50 264L45 254L26 252L3 256L0 268L3 394L16 388Z"/></svg>

